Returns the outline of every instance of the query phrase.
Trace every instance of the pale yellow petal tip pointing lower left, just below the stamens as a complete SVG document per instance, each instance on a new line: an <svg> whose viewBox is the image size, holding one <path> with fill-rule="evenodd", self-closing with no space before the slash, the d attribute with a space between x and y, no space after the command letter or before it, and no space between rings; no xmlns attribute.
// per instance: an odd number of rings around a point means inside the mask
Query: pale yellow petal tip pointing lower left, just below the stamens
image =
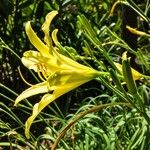
<svg viewBox="0 0 150 150"><path fill-rule="evenodd" d="M36 84L36 85L28 88L24 92L22 92L15 100L14 105L16 106L20 101L22 101L23 99L26 99L30 96L33 96L36 94L41 94L41 93L46 93L48 91L49 91L49 89L47 88L47 82L42 82L42 83Z"/></svg>

